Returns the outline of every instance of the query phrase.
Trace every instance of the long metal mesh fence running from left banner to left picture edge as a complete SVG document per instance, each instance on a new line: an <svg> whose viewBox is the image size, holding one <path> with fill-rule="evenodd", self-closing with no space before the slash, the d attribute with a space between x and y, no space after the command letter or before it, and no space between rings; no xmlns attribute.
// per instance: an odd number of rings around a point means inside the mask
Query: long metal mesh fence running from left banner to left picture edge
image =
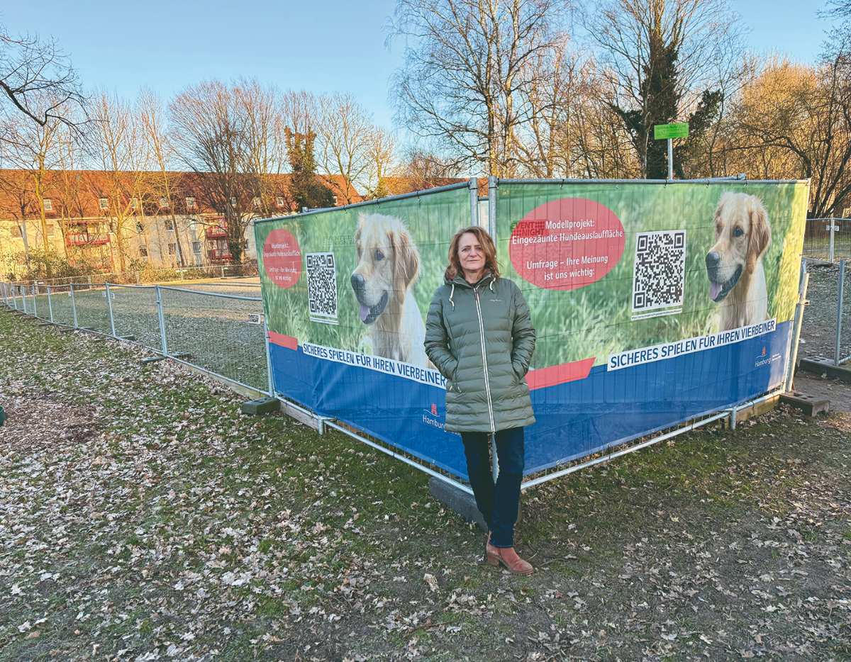
<svg viewBox="0 0 851 662"><path fill-rule="evenodd" d="M260 296L111 282L0 282L0 298L44 322L134 342L271 395Z"/></svg>

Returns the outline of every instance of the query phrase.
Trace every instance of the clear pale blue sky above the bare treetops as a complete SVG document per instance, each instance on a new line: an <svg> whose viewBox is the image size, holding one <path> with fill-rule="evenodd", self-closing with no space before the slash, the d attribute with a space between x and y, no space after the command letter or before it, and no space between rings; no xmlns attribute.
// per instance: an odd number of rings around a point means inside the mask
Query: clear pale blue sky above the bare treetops
<svg viewBox="0 0 851 662"><path fill-rule="evenodd" d="M3 4L0 22L53 36L92 88L134 97L147 86L168 99L208 78L257 77L281 88L350 91L391 126L387 83L401 47L386 46L386 26L395 0ZM815 14L824 4L731 0L754 50L802 62L820 52L825 21Z"/></svg>

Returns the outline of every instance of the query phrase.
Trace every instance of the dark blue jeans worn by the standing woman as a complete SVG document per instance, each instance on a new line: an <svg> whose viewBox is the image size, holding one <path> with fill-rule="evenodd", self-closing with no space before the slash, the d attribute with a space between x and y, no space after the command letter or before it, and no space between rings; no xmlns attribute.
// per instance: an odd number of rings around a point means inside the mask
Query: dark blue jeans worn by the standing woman
<svg viewBox="0 0 851 662"><path fill-rule="evenodd" d="M520 505L520 482L523 479L523 428L514 427L496 433L496 457L500 476L490 471L487 432L461 432L467 456L467 474L476 497L476 505L491 531L494 547L514 546L514 524Z"/></svg>

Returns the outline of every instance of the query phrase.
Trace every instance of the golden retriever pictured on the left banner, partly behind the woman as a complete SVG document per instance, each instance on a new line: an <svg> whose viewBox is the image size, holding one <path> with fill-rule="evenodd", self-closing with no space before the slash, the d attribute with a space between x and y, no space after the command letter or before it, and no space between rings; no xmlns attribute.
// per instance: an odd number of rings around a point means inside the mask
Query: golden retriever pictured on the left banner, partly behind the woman
<svg viewBox="0 0 851 662"><path fill-rule="evenodd" d="M408 228L393 216L361 214L355 248L351 288L372 353L431 368L423 348L426 324L412 290L420 274L420 252Z"/></svg>

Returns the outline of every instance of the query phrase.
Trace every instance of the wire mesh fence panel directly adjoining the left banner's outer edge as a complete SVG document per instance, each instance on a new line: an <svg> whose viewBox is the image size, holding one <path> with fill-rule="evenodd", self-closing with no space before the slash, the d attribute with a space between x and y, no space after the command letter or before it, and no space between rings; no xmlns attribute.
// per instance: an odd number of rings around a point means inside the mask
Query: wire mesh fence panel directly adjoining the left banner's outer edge
<svg viewBox="0 0 851 662"><path fill-rule="evenodd" d="M160 288L168 354L267 391L263 300Z"/></svg>

